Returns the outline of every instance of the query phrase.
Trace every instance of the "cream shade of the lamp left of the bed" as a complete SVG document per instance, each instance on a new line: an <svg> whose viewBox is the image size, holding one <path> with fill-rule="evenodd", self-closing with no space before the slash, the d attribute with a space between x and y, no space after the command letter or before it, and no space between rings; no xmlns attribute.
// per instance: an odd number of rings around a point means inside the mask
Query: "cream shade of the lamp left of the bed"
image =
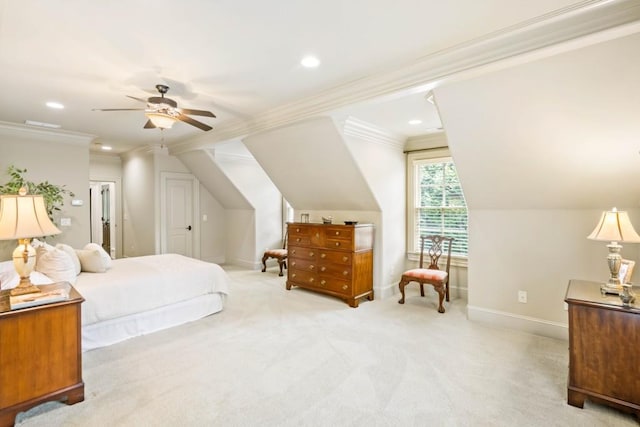
<svg viewBox="0 0 640 427"><path fill-rule="evenodd" d="M0 196L0 240L51 236L61 231L51 222L42 196Z"/></svg>

